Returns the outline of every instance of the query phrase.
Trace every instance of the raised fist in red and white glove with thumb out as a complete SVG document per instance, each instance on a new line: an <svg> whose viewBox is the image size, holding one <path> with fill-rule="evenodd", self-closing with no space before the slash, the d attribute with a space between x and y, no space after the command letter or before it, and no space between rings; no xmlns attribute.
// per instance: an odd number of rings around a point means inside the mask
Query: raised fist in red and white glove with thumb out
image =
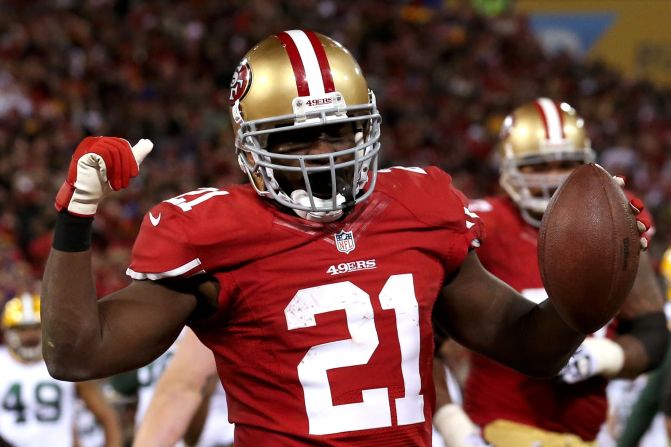
<svg viewBox="0 0 671 447"><path fill-rule="evenodd" d="M139 173L142 160L154 144L147 139L135 146L123 138L86 137L75 149L68 176L56 195L56 209L91 217L110 191L126 188Z"/></svg>

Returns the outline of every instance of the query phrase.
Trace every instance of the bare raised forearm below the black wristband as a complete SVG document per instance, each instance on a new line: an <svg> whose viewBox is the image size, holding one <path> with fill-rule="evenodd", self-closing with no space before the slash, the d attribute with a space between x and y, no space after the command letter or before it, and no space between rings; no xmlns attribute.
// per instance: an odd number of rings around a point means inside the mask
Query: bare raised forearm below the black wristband
<svg viewBox="0 0 671 447"><path fill-rule="evenodd" d="M100 319L91 252L52 249L42 283L44 360L61 380L82 380L100 343Z"/></svg>

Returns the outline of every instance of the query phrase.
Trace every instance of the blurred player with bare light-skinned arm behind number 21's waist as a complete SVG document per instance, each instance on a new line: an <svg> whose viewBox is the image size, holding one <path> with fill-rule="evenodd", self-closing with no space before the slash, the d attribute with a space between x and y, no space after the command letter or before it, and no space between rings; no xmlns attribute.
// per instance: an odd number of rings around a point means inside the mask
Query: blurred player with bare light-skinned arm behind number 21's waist
<svg viewBox="0 0 671 447"><path fill-rule="evenodd" d="M156 384L133 445L175 445L179 440L189 438L189 429L193 431L193 423L198 419L202 421L203 433L192 435L187 443L204 447L232 445L233 426L228 423L227 414L211 411L212 404L223 410L217 402L210 402L221 386L218 382L212 351L198 340L193 331L187 331ZM225 394L222 390L216 396L219 399ZM225 408L225 398L223 404Z"/></svg>

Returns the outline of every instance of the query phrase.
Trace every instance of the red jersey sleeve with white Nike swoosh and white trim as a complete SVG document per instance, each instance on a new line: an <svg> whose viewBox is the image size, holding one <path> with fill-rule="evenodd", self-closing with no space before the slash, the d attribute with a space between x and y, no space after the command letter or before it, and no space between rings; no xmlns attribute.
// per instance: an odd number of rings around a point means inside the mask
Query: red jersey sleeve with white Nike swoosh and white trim
<svg viewBox="0 0 671 447"><path fill-rule="evenodd" d="M184 213L162 202L152 208L140 227L126 274L133 279L191 276L202 271L201 261L189 243Z"/></svg>

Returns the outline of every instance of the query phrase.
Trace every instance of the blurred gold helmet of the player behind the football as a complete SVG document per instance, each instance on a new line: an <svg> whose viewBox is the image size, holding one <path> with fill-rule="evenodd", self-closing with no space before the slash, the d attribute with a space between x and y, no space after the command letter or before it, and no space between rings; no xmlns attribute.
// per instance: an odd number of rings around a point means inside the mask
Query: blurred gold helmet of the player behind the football
<svg viewBox="0 0 671 447"><path fill-rule="evenodd" d="M501 186L534 226L540 226L552 194L568 177L543 172L544 165L595 158L583 119L570 105L548 98L524 104L503 120L498 149Z"/></svg>

